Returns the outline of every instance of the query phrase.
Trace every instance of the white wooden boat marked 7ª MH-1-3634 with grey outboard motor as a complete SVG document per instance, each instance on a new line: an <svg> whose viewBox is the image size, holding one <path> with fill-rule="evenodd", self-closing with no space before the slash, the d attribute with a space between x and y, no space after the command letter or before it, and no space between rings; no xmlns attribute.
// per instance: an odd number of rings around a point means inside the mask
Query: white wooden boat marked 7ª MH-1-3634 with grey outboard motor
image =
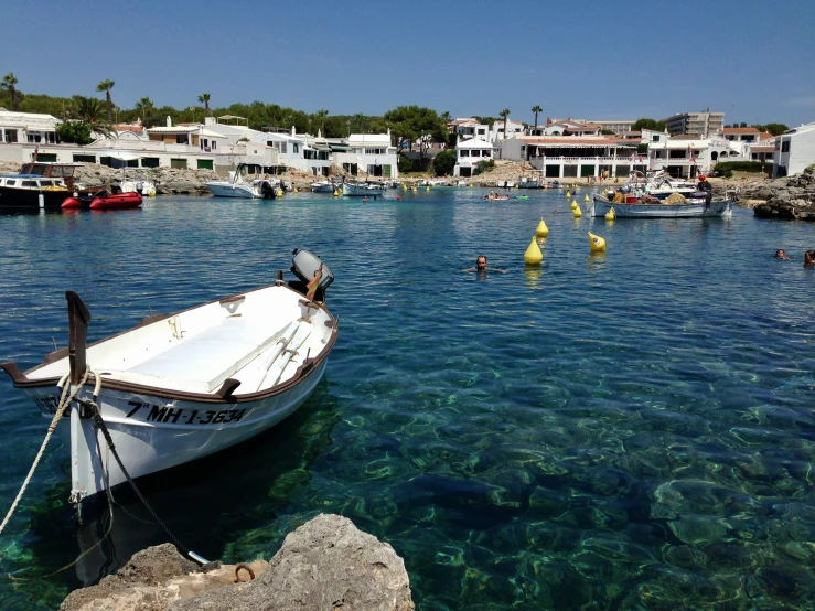
<svg viewBox="0 0 815 611"><path fill-rule="evenodd" d="M299 280L287 285L279 271L275 285L151 315L89 345L90 312L67 292L68 346L24 373L0 364L49 420L61 388L76 393L56 422L73 503L239 443L308 399L336 341L336 319L319 301L333 274L308 250L294 250L291 269ZM108 459L107 436L127 474Z"/></svg>

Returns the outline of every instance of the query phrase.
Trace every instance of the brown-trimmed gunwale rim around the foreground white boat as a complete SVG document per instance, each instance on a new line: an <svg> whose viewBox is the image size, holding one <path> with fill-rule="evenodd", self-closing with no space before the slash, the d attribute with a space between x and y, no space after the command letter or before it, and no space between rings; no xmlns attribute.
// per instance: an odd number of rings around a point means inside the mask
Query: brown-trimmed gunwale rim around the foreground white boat
<svg viewBox="0 0 815 611"><path fill-rule="evenodd" d="M142 326L146 326L148 324L152 324L152 323L156 323L156 322L160 322L162 320L171 319L173 317L183 314L185 312L190 312L192 310L196 310L197 308L203 308L205 306L211 306L213 303L223 303L225 301L228 302L227 300L233 300L234 301L237 298L240 298L243 296L246 296L247 293L262 291L262 290L275 288L275 287L283 287L283 288L290 290L291 292L293 292L293 293L296 293L296 294L298 294L300 297L303 297L302 293L300 293L299 291L292 289L291 287L289 287L287 285L278 285L277 282L276 283L272 283L272 285L266 285L264 287L259 287L257 289L253 289L253 290L249 290L249 291L243 291L243 292L234 293L234 294L230 294L230 296L227 296L227 297L222 297L222 298L218 298L218 299L213 299L212 301L206 301L204 303L200 303L200 304L194 306L192 308L187 308L185 310L180 310L180 311L174 312L172 314L167 314L167 315L163 315L163 314L153 314L151 317L146 317L136 326L131 326L130 329L126 329L124 331L120 331L119 333L115 333L112 335L108 335L107 337L103 337L101 340L98 340L98 341L96 341L96 342L94 342L92 344L88 344L87 347L93 347L93 346L95 346L97 344L100 344L103 342L107 342L108 340L112 340L112 339L118 337L120 335L125 335L126 333L130 333L132 331L136 331L137 329L141 329ZM307 302L307 303L311 303L311 302ZM303 361L300 364L300 366L297 368L297 371L294 372L294 375L291 378L289 378L283 384L271 386L271 387L269 387L269 388L267 388L265 390L258 390L258 392L255 392L255 393L246 393L244 395L240 395L240 394L234 395L234 394L230 394L230 393L226 393L224 395L218 395L217 393L221 392L224 388L224 386L222 386L218 390L216 390L215 392L216 394L210 394L210 393L190 393L190 392L185 392L185 390L174 390L174 389L170 389L170 388L161 388L161 387L158 387L158 386L147 386L147 385L143 385L143 384L136 384L136 383L132 383L132 382L122 382L122 380L117 380L117 379L110 379L110 378L103 377L103 382L104 382L103 388L104 389L107 389L107 390L121 390L121 392L126 392L126 393L137 393L139 395L150 395L150 396L153 396L153 397L161 397L161 398L167 398L167 399L186 400L186 401L192 401L192 403L205 403L205 404L242 404L242 403L253 403L253 401L258 401L258 400L267 399L267 398L272 397L275 395L280 395L282 393L286 393L287 390L289 390L291 387L296 386L297 384L300 384L300 382L302 382L307 377L309 377L309 375L311 375L311 373L318 368L318 366L320 365L320 363L322 363L328 357L329 353L331 352L331 349L333 349L334 344L336 343L336 335L337 335L337 331L339 331L339 326L336 324L336 319L331 313L331 311L329 311L329 309L325 307L325 304L319 304L317 307L319 309L323 310L329 315L329 320L325 321L325 325L331 329L330 339L329 339L328 343L325 344L325 346L323 347L323 350L321 350L317 354L317 356L313 356L313 357L310 357L310 358L307 358L305 361ZM40 368L42 368L42 367L44 367L46 365L50 365L54 361L58 361L60 358L64 358L65 357L64 356L64 353L66 351L67 351L67 349L61 349L61 350L57 350L57 351L54 351L54 352L51 352L51 353L46 354L44 356L42 363L40 363L39 365L36 365L36 366L34 366L34 367L32 367L30 369L26 369L25 372L21 372L20 368L17 366L17 364L13 363L13 362L0 363L0 368L2 368L9 375L9 377L11 377L11 379L12 379L15 388L23 388L23 389L25 389L25 388L45 388L45 387L49 387L49 386L56 386L56 384L60 382L60 378L58 377L46 377L46 378L41 378L41 379L31 379L28 376L31 373L33 373L33 372L35 372L35 371L37 371L37 369L40 369ZM88 384L90 382L96 382L95 376L93 374L88 375ZM226 380L224 383L224 385L226 385L227 383L228 383L228 380Z"/></svg>

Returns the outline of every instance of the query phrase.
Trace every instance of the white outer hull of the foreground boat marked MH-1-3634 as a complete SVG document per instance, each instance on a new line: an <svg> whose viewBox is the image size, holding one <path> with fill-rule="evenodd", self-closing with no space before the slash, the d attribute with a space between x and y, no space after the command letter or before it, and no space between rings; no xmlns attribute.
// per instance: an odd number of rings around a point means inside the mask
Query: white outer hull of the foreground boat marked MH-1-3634
<svg viewBox="0 0 815 611"><path fill-rule="evenodd" d="M313 393L325 371L323 360L309 375L283 393L257 401L240 404L200 404L108 389L103 386L97 404L114 446L131 478L157 473L172 467L207 457L246 441L291 416ZM51 420L60 397L56 388L25 390L44 418ZM90 388L79 392L79 400L90 400ZM94 420L79 418L78 410L60 420L56 433L72 448L72 429L78 433L78 446L92 451L73 453L72 490L75 501L105 490L105 473L111 486L127 478L112 457ZM96 451L101 448L101 452ZM101 453L101 457L99 455Z"/></svg>

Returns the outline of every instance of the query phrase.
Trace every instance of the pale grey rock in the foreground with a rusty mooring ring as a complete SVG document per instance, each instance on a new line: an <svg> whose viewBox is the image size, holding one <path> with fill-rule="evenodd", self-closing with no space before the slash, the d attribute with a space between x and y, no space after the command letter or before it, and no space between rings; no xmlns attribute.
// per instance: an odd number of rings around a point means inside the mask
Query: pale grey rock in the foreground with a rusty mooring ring
<svg viewBox="0 0 815 611"><path fill-rule="evenodd" d="M235 565L199 568L172 545L136 554L117 575L72 592L62 611L305 611L414 609L405 562L388 544L339 515L320 515L290 533L257 578L234 583ZM240 569L242 580L248 571Z"/></svg>

